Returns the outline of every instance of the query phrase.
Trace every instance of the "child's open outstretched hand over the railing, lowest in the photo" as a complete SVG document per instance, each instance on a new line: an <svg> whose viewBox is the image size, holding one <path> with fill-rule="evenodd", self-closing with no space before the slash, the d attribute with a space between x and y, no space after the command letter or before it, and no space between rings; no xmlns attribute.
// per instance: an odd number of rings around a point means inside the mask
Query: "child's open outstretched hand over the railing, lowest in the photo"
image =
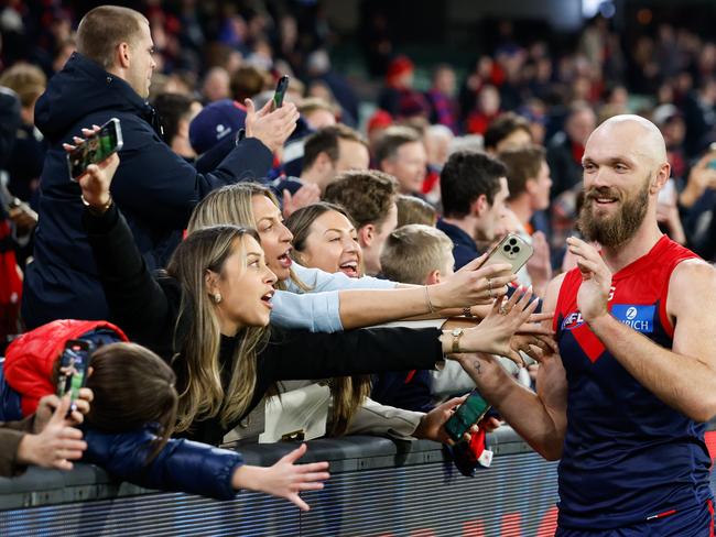
<svg viewBox="0 0 716 537"><path fill-rule="evenodd" d="M295 464L305 452L306 445L302 443L272 467L239 467L234 472L231 484L234 489L247 489L285 497L301 509L308 511L311 507L301 500L299 494L303 491L323 489L323 481L330 478L330 474L326 471L328 470L327 462Z"/></svg>

